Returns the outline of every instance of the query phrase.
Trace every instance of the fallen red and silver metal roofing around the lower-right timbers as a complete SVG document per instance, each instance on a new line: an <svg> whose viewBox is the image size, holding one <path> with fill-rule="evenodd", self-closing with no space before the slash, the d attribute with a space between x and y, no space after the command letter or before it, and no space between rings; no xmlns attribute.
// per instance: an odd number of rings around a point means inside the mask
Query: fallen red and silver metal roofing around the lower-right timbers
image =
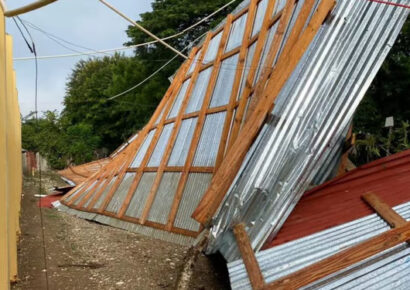
<svg viewBox="0 0 410 290"><path fill-rule="evenodd" d="M410 150L362 166L304 194L278 235L256 254L266 283L386 233L390 226L362 199L372 192L410 221ZM369 198L369 197L367 197ZM387 242L387 239L386 241ZM408 289L406 243L315 281L309 289ZM228 264L232 289L252 289L242 260ZM312 274L312 273L311 273ZM313 275L313 274L312 274Z"/></svg>

